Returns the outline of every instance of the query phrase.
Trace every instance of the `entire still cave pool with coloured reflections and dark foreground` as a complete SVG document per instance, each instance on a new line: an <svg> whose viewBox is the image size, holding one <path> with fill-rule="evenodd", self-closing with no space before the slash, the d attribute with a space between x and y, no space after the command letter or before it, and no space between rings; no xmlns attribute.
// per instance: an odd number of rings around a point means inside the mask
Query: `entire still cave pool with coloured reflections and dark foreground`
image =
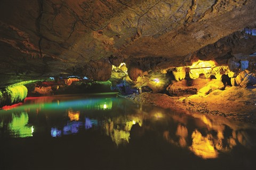
<svg viewBox="0 0 256 170"><path fill-rule="evenodd" d="M0 169L255 169L256 128L113 94L0 110Z"/></svg>

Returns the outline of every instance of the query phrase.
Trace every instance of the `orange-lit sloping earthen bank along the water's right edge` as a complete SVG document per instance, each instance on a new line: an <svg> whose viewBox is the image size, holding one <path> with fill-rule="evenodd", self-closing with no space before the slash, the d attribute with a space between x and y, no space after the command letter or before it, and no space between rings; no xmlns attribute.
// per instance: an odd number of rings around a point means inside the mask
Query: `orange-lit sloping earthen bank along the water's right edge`
<svg viewBox="0 0 256 170"><path fill-rule="evenodd" d="M173 97L150 92L121 96L132 101L150 103L186 114L223 116L256 125L256 88L226 86L223 91L215 90L205 96L195 94Z"/></svg>

